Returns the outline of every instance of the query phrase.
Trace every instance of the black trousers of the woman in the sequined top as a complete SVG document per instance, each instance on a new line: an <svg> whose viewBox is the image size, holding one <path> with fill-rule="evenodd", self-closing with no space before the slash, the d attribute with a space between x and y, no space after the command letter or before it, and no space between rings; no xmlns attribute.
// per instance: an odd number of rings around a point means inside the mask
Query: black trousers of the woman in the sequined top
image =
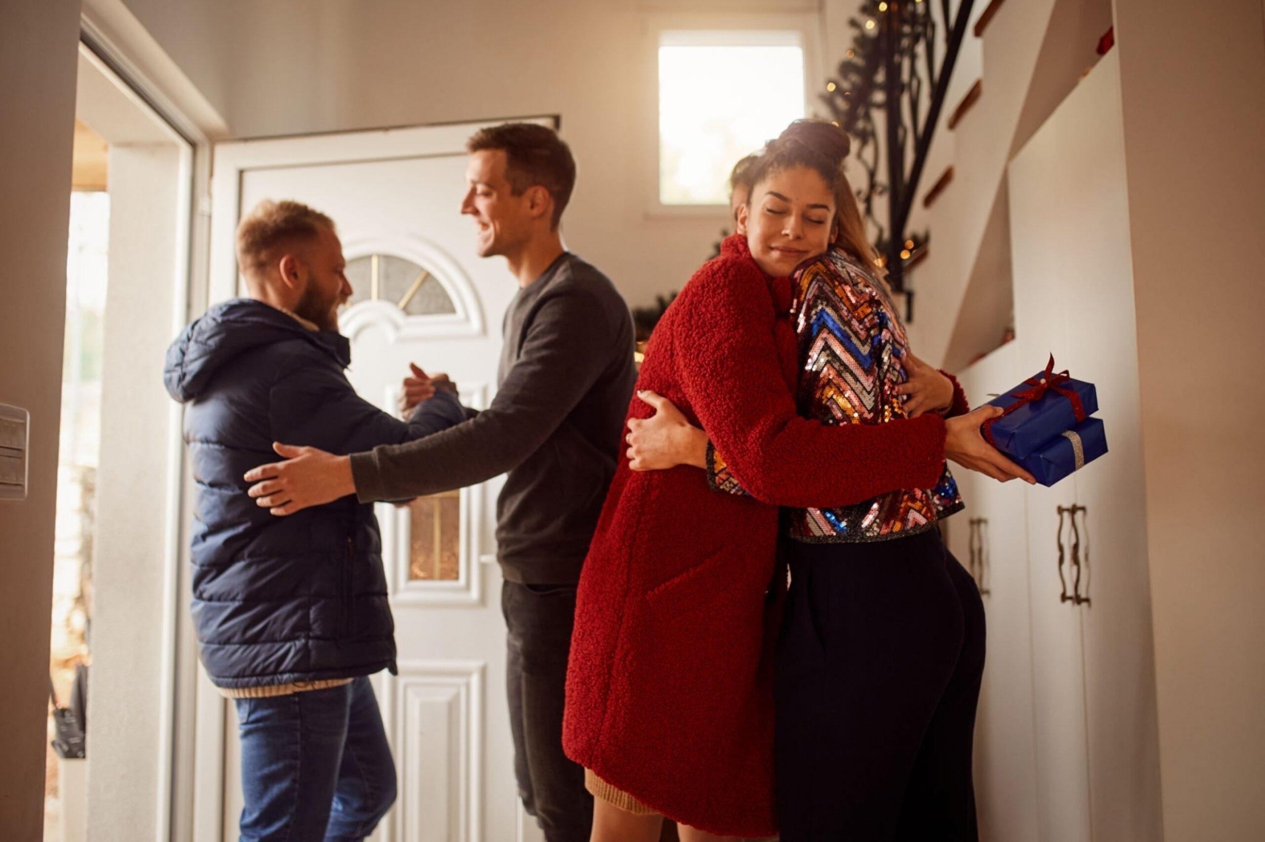
<svg viewBox="0 0 1265 842"><path fill-rule="evenodd" d="M788 544L775 684L782 842L974 842L975 582L934 530Z"/></svg>

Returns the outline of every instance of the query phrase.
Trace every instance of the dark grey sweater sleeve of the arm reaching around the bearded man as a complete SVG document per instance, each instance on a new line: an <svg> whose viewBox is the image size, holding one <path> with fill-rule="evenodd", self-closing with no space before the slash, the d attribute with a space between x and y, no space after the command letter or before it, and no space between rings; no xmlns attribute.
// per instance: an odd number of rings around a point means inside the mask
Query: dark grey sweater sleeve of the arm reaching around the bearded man
<svg viewBox="0 0 1265 842"><path fill-rule="evenodd" d="M616 335L593 296L565 290L543 300L517 362L491 406L419 441L352 454L362 502L423 497L484 482L516 468L553 435L592 388Z"/></svg>

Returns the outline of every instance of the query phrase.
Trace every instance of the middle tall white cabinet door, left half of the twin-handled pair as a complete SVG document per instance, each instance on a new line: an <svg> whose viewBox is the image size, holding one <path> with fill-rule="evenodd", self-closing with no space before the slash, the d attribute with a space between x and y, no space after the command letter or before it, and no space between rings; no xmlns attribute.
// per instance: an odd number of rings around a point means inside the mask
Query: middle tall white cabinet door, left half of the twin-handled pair
<svg viewBox="0 0 1265 842"><path fill-rule="evenodd" d="M1078 209L1075 197L1065 192L1069 167L1063 135L1075 130L1066 125L1065 114L1064 109L1056 111L1008 171L1015 330L1020 365L1027 368L1023 377L1039 370L1051 353L1060 368L1069 363L1068 273L1075 271L1077 262L1075 243L1063 228ZM1073 592L1071 547L1060 536L1059 515L1060 507L1070 507L1077 499L1077 477L1054 488L1030 488L1026 494L1039 838L1088 842L1084 641L1080 612L1066 599ZM1064 531L1066 518L1064 515Z"/></svg>

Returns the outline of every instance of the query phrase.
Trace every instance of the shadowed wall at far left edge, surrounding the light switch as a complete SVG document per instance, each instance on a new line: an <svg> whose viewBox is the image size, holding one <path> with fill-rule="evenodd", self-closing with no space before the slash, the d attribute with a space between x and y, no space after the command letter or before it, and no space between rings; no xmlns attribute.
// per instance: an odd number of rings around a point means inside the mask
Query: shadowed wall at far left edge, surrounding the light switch
<svg viewBox="0 0 1265 842"><path fill-rule="evenodd" d="M49 606L78 0L0 4L0 403L30 411L30 494L0 501L0 836L44 822Z"/></svg>

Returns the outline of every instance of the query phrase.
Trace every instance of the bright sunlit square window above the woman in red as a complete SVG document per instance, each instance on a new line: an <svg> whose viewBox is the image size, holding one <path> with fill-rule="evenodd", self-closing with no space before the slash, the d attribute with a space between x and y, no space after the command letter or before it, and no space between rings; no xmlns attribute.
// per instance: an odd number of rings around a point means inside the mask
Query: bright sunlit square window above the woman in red
<svg viewBox="0 0 1265 842"><path fill-rule="evenodd" d="M665 32L659 39L659 201L725 205L739 158L805 116L789 32Z"/></svg>

